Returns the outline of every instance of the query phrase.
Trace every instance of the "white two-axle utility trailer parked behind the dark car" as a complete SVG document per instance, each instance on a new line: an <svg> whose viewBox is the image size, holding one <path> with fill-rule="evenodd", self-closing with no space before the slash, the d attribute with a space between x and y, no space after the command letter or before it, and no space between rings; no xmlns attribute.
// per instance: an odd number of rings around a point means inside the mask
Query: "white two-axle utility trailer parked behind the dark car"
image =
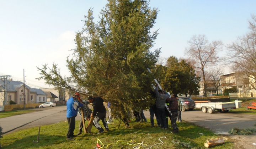
<svg viewBox="0 0 256 149"><path fill-rule="evenodd" d="M226 113L231 109L236 109L236 103L235 101L228 102L228 103L221 103L221 102L196 103L195 107L200 108L204 113L207 113L208 111L209 114L212 114L215 110L217 110L218 112L223 111Z"/></svg>

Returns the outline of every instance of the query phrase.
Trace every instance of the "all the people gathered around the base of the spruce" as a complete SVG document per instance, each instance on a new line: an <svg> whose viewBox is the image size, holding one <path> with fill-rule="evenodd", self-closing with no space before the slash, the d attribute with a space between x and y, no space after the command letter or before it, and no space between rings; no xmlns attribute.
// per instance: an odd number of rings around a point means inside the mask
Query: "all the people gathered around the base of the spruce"
<svg viewBox="0 0 256 149"><path fill-rule="evenodd" d="M178 96L173 94L169 97L169 94L164 90L158 90L158 84L156 84L155 92L153 96L156 98L156 103L149 108L150 112L150 123L154 127L154 115L156 116L157 125L163 129L168 128L168 117L170 117L171 125L174 133L178 133L179 129L176 124L176 120L181 122L181 111L182 105L181 101L178 99ZM103 104L104 100L101 97L92 97L89 96L88 100L81 100L80 94L75 93L73 97L69 98L67 105L66 117L68 120L68 133L67 140L73 140L74 137L82 133L82 128L84 127L84 121L87 120L88 125L85 128L87 133L91 133L91 128L94 126L98 129L98 134L109 131L108 123L113 122L112 114L110 109L110 103L108 103L109 120L106 121L106 108ZM88 107L88 104L92 103L93 111ZM166 105L168 110L166 110ZM79 123L79 132L77 135L74 135L75 130L75 117L79 114L81 116L81 121ZM83 117L82 117L83 116ZM139 112L134 111L134 116L137 122L147 122L143 109ZM101 127L99 121L102 121L105 130ZM124 118L123 122L126 124L126 128L129 127L129 122Z"/></svg>

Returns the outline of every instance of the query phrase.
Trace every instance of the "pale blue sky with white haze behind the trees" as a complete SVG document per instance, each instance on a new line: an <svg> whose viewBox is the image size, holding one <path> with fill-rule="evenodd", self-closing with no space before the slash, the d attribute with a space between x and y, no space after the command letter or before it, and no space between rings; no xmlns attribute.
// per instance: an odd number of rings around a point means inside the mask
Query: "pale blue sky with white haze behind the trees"
<svg viewBox="0 0 256 149"><path fill-rule="evenodd" d="M84 26L81 20L92 7L97 21L106 4L107 0L0 0L0 75L23 81L25 69L28 85L45 88L44 81L35 79L40 76L36 66L55 62L61 74L68 74L65 60L75 48L75 32ZM162 47L161 57L183 57L187 41L198 34L230 44L249 32L248 20L256 14L255 0L151 0L149 6L159 10L153 30L159 29L154 49Z"/></svg>

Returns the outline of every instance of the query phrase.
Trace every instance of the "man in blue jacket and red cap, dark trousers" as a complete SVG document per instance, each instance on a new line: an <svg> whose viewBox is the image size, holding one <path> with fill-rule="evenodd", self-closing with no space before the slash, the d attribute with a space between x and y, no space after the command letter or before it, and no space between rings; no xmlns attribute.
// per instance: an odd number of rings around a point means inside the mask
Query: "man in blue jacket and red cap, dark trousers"
<svg viewBox="0 0 256 149"><path fill-rule="evenodd" d="M74 135L75 130L75 117L78 114L78 107L82 107L83 104L78 102L78 99L80 98L79 93L75 93L73 97L69 98L66 106L67 106L67 112L66 117L68 119L68 133L67 133L67 140L74 140L72 137L76 137Z"/></svg>

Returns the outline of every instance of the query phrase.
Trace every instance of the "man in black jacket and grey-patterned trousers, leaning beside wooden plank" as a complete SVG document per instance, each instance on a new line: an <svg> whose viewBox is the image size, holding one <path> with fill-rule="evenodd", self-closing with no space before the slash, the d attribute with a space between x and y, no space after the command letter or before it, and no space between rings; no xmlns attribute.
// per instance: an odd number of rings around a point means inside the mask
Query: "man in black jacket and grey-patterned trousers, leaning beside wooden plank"
<svg viewBox="0 0 256 149"><path fill-rule="evenodd" d="M98 123L100 120L102 121L106 131L109 131L107 120L106 120L107 111L103 104L104 100L101 97L89 96L88 101L92 103L92 107L94 108L91 116L95 117L93 123L95 127L99 130L98 134L104 132L104 129Z"/></svg>

